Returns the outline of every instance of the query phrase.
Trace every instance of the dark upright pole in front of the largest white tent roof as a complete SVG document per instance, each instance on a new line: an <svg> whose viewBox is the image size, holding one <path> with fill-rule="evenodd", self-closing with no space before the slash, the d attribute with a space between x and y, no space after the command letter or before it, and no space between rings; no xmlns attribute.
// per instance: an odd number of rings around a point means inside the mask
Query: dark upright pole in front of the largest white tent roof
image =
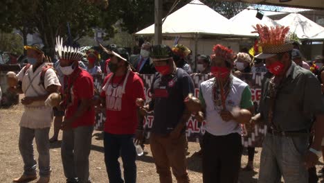
<svg viewBox="0 0 324 183"><path fill-rule="evenodd" d="M155 0L154 5L154 42L162 44L162 1Z"/></svg>

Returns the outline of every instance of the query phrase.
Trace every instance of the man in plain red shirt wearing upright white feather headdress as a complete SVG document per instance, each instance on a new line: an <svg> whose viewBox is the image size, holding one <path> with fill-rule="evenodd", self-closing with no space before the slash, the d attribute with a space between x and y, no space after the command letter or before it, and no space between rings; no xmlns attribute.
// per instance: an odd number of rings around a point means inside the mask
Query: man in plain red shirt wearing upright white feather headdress
<svg viewBox="0 0 324 183"><path fill-rule="evenodd" d="M63 51L62 40L58 39L57 53L64 74L65 118L62 123L62 163L66 182L86 183L89 181L89 155L95 121L93 78L81 69L78 61L84 56L78 49Z"/></svg>

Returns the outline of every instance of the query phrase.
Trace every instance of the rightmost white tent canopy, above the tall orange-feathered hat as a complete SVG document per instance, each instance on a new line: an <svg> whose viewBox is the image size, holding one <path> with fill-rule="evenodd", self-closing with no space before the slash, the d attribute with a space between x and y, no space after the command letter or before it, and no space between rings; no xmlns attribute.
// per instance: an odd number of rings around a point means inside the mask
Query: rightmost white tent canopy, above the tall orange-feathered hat
<svg viewBox="0 0 324 183"><path fill-rule="evenodd" d="M320 38L321 36L318 34L324 32L322 26L297 13L291 13L277 22L283 26L289 26L290 32L295 33L301 40L316 40L316 35L317 38ZM321 38L323 39L324 36Z"/></svg>

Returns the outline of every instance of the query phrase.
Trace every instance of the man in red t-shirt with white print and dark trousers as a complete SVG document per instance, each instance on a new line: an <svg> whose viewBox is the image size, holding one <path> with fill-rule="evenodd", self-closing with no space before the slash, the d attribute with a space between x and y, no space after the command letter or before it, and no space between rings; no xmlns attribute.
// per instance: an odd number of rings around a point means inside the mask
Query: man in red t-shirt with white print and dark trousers
<svg viewBox="0 0 324 183"><path fill-rule="evenodd" d="M141 78L131 71L125 49L118 48L109 53L113 55L109 62L111 73L105 78L101 92L102 106L107 112L104 129L105 164L109 182L124 182L118 162L121 156L125 182L133 183L136 182L136 99L145 99L144 86Z"/></svg>

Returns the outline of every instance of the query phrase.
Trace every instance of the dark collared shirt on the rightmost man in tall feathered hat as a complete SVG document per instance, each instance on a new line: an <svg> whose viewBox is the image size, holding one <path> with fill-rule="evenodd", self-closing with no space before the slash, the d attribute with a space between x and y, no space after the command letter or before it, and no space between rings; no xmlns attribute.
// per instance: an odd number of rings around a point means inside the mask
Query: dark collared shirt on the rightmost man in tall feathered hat
<svg viewBox="0 0 324 183"><path fill-rule="evenodd" d="M286 76L282 79L275 99L273 125L282 131L309 130L314 116L324 114L321 85L312 72L298 67L294 62ZM267 73L262 80L260 101L260 114L268 125L271 125L268 121L270 79L271 74Z"/></svg>

